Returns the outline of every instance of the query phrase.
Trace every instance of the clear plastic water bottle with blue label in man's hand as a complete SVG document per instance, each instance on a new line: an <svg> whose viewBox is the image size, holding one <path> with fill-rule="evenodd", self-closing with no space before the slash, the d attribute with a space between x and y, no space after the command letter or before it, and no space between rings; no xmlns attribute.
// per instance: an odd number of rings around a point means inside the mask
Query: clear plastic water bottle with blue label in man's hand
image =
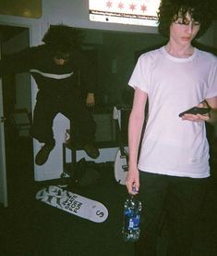
<svg viewBox="0 0 217 256"><path fill-rule="evenodd" d="M136 196L130 195L124 206L124 225L122 234L127 242L135 242L140 233L141 202Z"/></svg>

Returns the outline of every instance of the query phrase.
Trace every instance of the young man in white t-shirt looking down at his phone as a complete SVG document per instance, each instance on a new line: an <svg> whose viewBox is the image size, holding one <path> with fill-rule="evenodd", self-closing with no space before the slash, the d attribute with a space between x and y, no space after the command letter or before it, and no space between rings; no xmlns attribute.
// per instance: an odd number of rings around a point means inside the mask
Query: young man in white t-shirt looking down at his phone
<svg viewBox="0 0 217 256"><path fill-rule="evenodd" d="M206 32L211 20L209 2L163 0L159 32L169 41L141 55L129 80L135 94L128 124L126 184L130 194L136 188L143 204L136 255L156 255L163 211L169 230L168 255L190 254L210 176L205 122L217 120L217 58L191 43ZM179 116L193 107L211 109Z"/></svg>

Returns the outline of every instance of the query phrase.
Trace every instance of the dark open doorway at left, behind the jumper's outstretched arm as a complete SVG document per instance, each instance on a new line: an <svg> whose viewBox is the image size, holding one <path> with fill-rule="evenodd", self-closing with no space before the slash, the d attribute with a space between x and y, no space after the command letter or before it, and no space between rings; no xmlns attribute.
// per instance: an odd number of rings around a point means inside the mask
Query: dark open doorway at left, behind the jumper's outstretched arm
<svg viewBox="0 0 217 256"><path fill-rule="evenodd" d="M25 27L0 25L1 56L4 58L30 46L30 30ZM21 61L21 60L20 60ZM8 67L9 69L9 67ZM6 142L6 183L8 205L14 203L18 189L33 179L33 146L30 131L19 123L24 116L31 120L30 73L6 74L2 77ZM26 117L25 117L26 118ZM31 169L31 171L29 170Z"/></svg>

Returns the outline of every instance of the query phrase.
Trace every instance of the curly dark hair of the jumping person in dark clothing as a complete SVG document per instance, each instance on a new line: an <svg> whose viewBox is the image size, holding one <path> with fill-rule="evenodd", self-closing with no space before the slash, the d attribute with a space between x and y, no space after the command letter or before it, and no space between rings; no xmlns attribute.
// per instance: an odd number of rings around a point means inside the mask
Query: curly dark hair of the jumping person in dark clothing
<svg viewBox="0 0 217 256"><path fill-rule="evenodd" d="M53 52L71 53L83 40L83 33L64 24L51 25L42 42Z"/></svg>

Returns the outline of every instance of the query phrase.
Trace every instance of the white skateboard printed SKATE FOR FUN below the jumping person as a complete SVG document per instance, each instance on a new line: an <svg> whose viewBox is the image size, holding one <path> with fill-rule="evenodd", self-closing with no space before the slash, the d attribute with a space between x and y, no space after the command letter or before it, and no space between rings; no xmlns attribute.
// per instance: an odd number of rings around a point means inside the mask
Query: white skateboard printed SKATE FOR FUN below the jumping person
<svg viewBox="0 0 217 256"><path fill-rule="evenodd" d="M108 211L102 203L79 196L59 186L42 188L37 192L36 199L94 223L102 223L108 217Z"/></svg>

